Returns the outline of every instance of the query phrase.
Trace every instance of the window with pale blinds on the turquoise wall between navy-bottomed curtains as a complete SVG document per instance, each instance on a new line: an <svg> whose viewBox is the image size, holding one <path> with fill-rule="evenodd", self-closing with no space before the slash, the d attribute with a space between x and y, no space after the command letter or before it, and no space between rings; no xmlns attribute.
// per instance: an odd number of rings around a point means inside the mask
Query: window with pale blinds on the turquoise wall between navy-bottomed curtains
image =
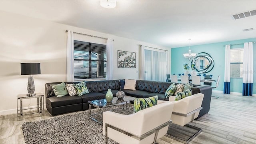
<svg viewBox="0 0 256 144"><path fill-rule="evenodd" d="M244 49L235 48L230 50L230 78L243 77Z"/></svg>

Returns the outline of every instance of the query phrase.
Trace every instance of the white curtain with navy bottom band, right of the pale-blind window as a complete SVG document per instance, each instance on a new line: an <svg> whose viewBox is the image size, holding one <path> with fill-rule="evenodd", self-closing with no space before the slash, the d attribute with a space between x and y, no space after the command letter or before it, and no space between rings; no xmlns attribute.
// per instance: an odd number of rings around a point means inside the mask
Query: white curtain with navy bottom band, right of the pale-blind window
<svg viewBox="0 0 256 144"><path fill-rule="evenodd" d="M253 90L253 52L252 42L244 43L244 62L243 62L243 96L252 96Z"/></svg>

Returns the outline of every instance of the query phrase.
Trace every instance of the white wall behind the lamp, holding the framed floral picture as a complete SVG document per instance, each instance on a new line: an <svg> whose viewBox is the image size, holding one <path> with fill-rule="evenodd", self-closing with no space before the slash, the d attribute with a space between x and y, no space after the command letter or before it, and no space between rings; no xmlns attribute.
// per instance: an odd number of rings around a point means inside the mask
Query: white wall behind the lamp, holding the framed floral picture
<svg viewBox="0 0 256 144"><path fill-rule="evenodd" d="M66 81L66 30L114 39L113 79L139 79L140 44L146 42L104 34L46 20L0 11L0 115L16 112L17 94L26 94L27 75L20 75L21 62L40 62L41 74L34 75L36 91L47 82ZM117 68L117 50L136 52L136 68ZM170 61L170 60L169 60ZM24 100L27 107L30 100ZM36 101L31 100L30 106Z"/></svg>

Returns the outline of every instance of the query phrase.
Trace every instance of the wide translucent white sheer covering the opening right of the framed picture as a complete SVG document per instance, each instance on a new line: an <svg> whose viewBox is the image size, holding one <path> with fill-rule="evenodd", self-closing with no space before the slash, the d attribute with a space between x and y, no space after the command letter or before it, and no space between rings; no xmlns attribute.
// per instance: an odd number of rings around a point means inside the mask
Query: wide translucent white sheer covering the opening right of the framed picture
<svg viewBox="0 0 256 144"><path fill-rule="evenodd" d="M167 51L145 48L144 80L166 81Z"/></svg>

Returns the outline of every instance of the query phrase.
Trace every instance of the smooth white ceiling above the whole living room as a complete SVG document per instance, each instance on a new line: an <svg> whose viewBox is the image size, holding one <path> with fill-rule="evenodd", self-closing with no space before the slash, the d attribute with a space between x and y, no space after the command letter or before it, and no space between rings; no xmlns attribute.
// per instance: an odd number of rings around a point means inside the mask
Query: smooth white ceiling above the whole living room
<svg viewBox="0 0 256 144"><path fill-rule="evenodd" d="M169 48L256 38L256 0L0 0L0 10L50 20ZM244 32L243 29L254 28Z"/></svg>

